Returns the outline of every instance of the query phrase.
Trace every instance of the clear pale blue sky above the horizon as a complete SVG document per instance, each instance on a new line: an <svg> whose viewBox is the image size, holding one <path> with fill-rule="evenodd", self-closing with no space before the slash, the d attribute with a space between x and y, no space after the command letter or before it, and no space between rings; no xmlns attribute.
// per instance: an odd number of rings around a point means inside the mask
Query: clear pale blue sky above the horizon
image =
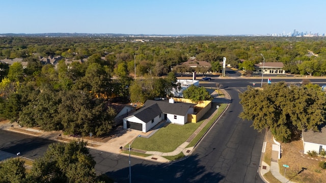
<svg viewBox="0 0 326 183"><path fill-rule="evenodd" d="M326 33L324 0L0 0L0 33Z"/></svg>

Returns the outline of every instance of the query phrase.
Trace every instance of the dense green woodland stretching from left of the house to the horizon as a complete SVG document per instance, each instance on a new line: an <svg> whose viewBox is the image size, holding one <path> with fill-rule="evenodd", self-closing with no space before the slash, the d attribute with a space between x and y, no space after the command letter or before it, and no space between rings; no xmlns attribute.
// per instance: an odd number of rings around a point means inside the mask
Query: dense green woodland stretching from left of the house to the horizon
<svg viewBox="0 0 326 183"><path fill-rule="evenodd" d="M0 37L0 59L18 57L28 63L0 63L0 117L67 134L105 134L113 128L115 116L107 99L144 103L169 96L179 87L175 73L193 71L180 65L193 56L212 65L197 68L198 73L219 72L224 56L232 67L238 68L240 59L252 66L262 61L261 53L266 62L283 62L292 74L326 73L324 38L178 37L145 43L128 39ZM62 59L53 66L39 60L57 55L71 62ZM134 69L139 79L134 80Z"/></svg>

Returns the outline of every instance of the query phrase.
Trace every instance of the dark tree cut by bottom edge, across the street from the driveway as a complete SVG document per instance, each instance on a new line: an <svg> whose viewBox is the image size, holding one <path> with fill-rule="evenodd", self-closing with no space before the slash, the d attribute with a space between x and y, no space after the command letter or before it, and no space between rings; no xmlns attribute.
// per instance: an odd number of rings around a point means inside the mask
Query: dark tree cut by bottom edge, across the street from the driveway
<svg viewBox="0 0 326 183"><path fill-rule="evenodd" d="M35 182L99 182L87 142L53 143L36 159L29 177Z"/></svg>

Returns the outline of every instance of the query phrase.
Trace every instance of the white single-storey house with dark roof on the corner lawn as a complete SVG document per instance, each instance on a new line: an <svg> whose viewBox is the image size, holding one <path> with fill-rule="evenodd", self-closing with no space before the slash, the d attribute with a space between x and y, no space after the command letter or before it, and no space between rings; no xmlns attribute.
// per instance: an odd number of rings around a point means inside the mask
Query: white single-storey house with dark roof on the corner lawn
<svg viewBox="0 0 326 183"><path fill-rule="evenodd" d="M169 99L169 101L147 100L141 109L123 118L123 128L148 132L162 120L184 125L188 122L188 114L194 113L195 105L175 102L173 99Z"/></svg>

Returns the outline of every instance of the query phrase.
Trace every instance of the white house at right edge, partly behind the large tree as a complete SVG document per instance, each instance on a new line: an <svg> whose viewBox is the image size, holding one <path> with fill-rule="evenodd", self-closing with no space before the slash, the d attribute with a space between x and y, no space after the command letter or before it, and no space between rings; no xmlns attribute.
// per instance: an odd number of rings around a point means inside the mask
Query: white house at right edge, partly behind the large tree
<svg viewBox="0 0 326 183"><path fill-rule="evenodd" d="M322 130L326 131L326 128ZM304 143L304 153L307 154L308 151L315 150L317 153L321 151L321 149L326 150L326 133L322 132L314 132L309 130L307 132L302 132L302 140Z"/></svg>

